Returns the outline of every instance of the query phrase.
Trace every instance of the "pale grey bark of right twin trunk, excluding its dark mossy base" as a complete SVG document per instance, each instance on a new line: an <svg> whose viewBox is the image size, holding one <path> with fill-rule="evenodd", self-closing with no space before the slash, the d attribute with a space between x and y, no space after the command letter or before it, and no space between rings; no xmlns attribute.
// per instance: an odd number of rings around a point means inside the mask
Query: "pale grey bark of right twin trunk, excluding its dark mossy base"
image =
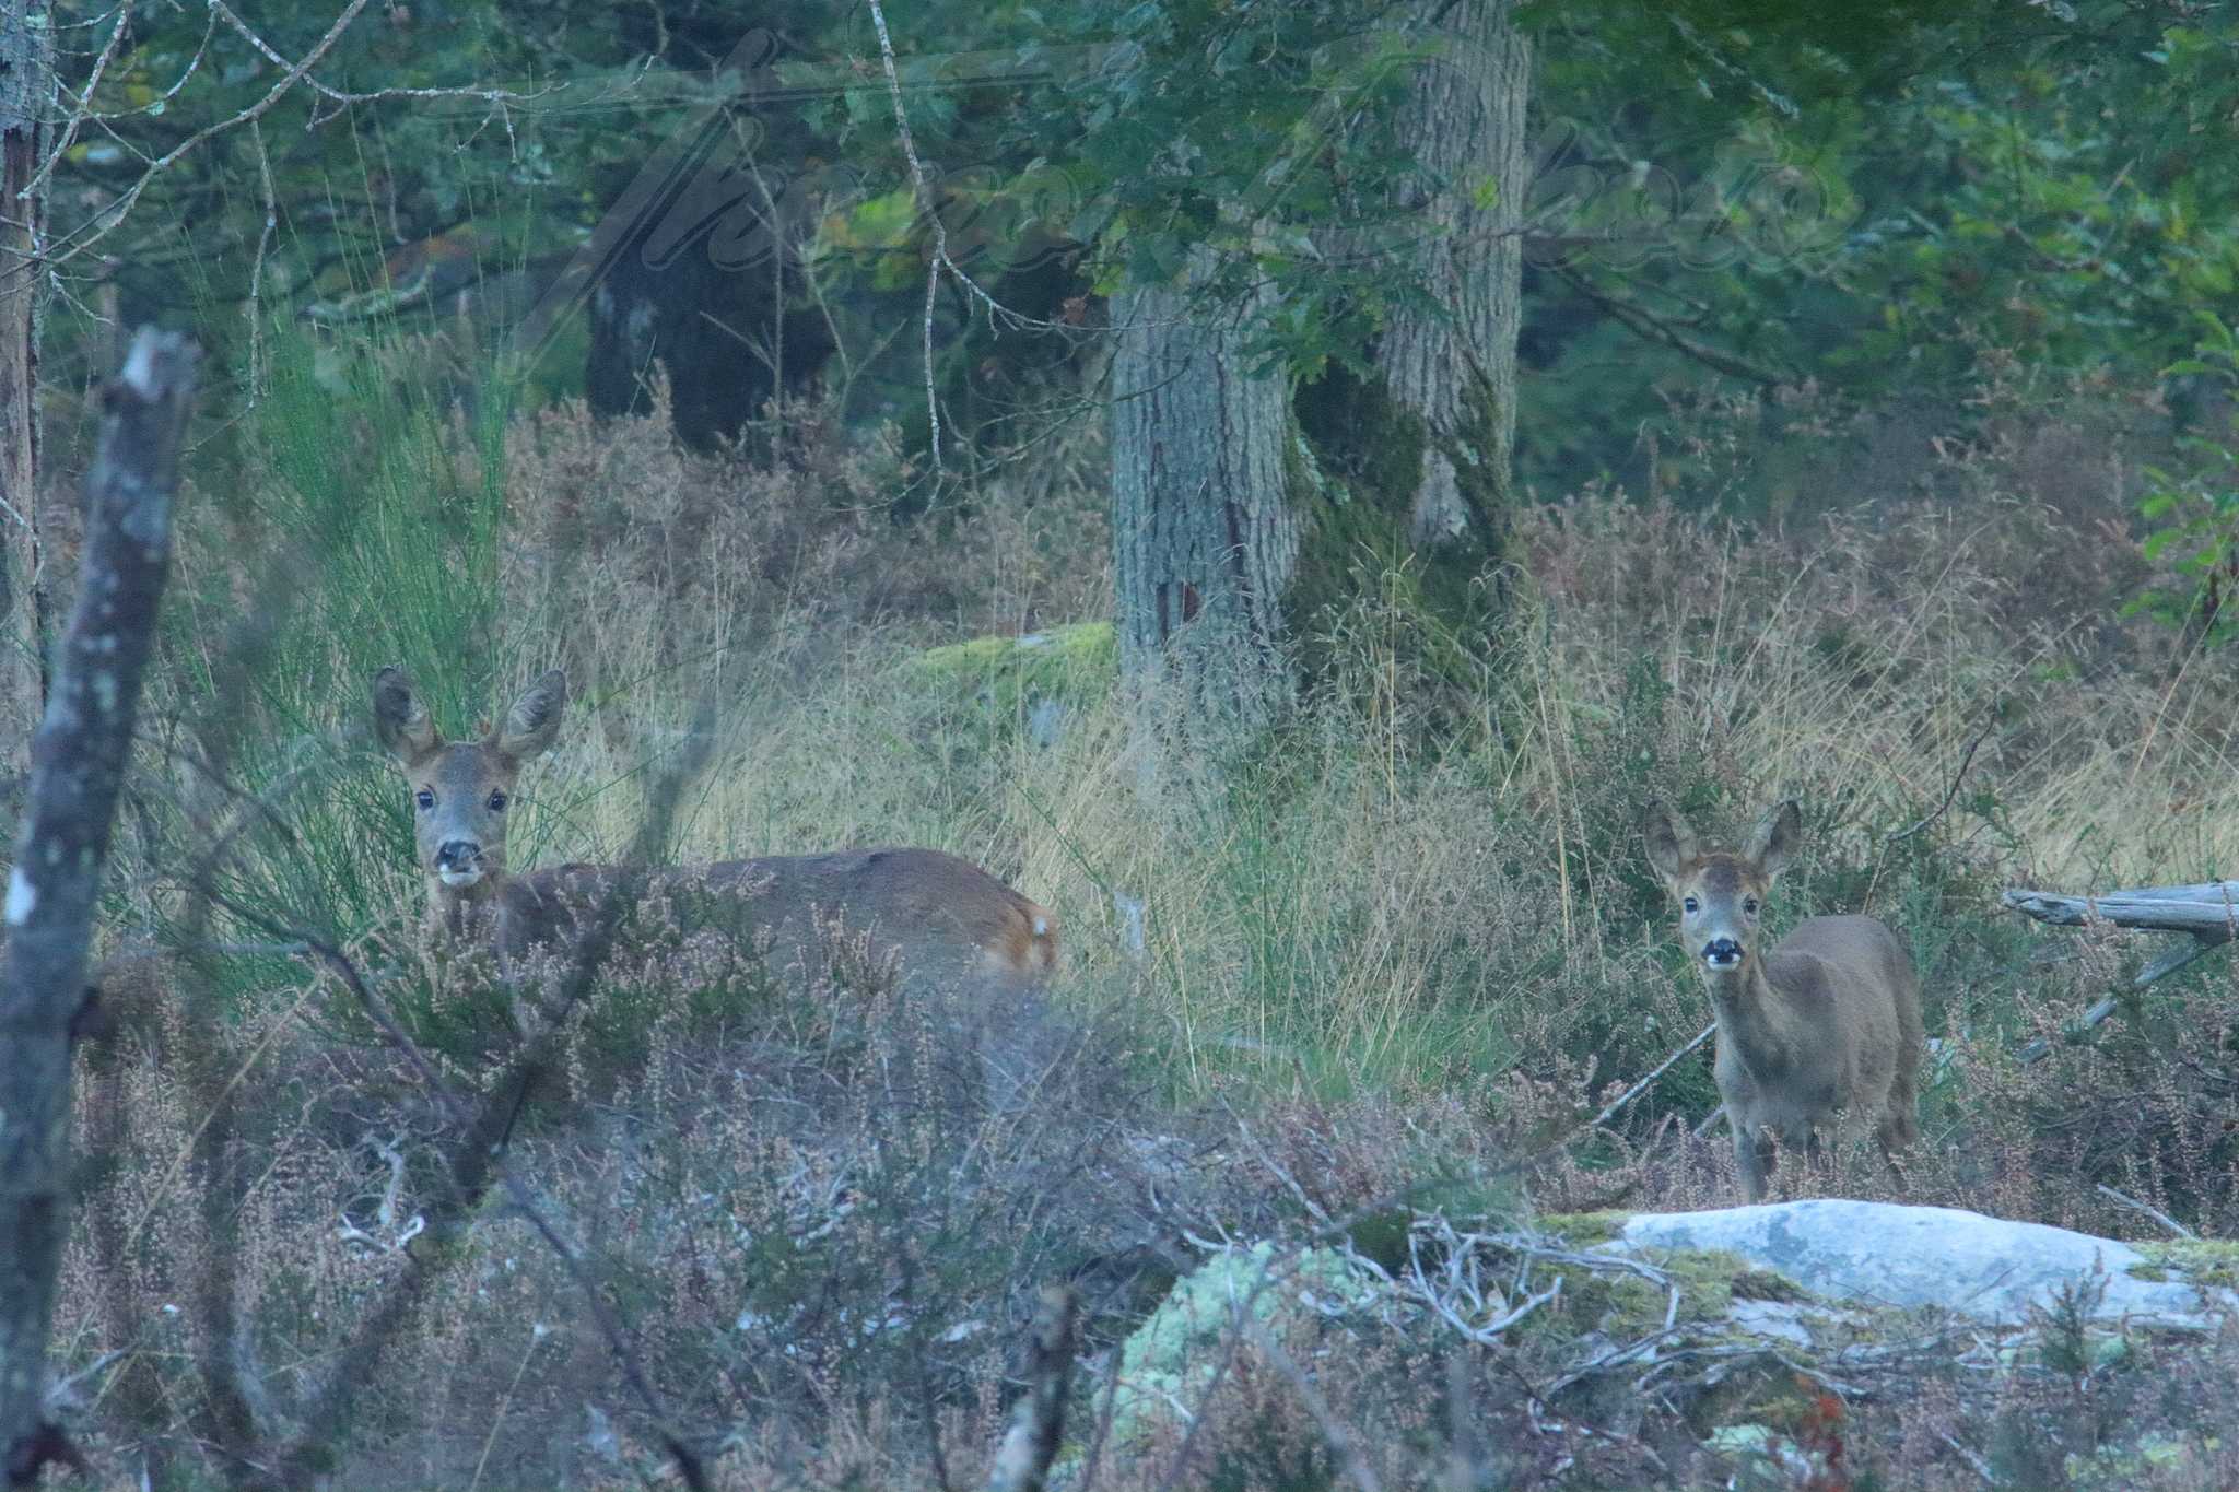
<svg viewBox="0 0 2239 1492"><path fill-rule="evenodd" d="M1411 268L1446 315L1402 306L1377 338L1375 367L1393 403L1422 421L1415 541L1482 528L1480 546L1498 553L1516 443L1531 43L1511 25L1514 0L1417 7L1442 51L1415 69L1399 119L1399 139L1428 174L1404 206L1424 228Z"/></svg>

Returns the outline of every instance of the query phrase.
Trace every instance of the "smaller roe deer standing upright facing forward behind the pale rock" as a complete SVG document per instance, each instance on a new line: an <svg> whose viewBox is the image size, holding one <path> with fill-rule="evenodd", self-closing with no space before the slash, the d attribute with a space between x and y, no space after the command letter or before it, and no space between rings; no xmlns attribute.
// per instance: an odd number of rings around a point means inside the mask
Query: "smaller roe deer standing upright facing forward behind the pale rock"
<svg viewBox="0 0 2239 1492"><path fill-rule="evenodd" d="M1679 942L1711 989L1717 1094L1749 1201L1764 1199L1773 1136L1818 1154L1816 1127L1870 1118L1883 1154L1917 1141L1921 986L1896 935L1872 917L1807 917L1760 953L1764 897L1802 834L1796 803L1764 814L1740 854L1704 850L1661 803L1646 828Z"/></svg>

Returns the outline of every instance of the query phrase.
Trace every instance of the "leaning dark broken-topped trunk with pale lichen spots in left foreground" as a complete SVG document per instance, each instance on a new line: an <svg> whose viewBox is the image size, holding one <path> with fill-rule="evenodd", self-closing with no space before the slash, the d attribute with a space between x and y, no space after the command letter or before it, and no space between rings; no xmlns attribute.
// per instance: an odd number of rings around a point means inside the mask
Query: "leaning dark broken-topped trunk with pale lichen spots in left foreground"
<svg viewBox="0 0 2239 1492"><path fill-rule="evenodd" d="M69 1029L85 989L101 863L170 570L170 508L195 351L141 331L107 387L85 479L78 604L31 749L0 964L0 1454L11 1485L67 1454L45 1425L45 1356L69 1230Z"/></svg>

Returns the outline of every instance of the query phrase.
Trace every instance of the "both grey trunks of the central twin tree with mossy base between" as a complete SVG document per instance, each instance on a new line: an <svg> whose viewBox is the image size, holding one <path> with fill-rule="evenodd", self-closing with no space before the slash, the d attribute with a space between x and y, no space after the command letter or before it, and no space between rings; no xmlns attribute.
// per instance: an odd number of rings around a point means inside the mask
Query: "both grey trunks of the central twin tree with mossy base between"
<svg viewBox="0 0 2239 1492"><path fill-rule="evenodd" d="M1435 311L1397 309L1368 376L1332 358L1294 398L1283 378L1243 374L1265 300L1209 311L1187 286L1113 300L1120 664L1140 720L1200 738L1267 720L1294 693L1294 655L1325 667L1323 613L1370 584L1431 622L1411 644L1424 676L1482 669L1473 638L1498 611L1484 582L1511 501L1531 49L1514 0L1415 2L1417 40L1440 54L1393 139L1426 181L1397 204L1406 233L1388 253Z"/></svg>

